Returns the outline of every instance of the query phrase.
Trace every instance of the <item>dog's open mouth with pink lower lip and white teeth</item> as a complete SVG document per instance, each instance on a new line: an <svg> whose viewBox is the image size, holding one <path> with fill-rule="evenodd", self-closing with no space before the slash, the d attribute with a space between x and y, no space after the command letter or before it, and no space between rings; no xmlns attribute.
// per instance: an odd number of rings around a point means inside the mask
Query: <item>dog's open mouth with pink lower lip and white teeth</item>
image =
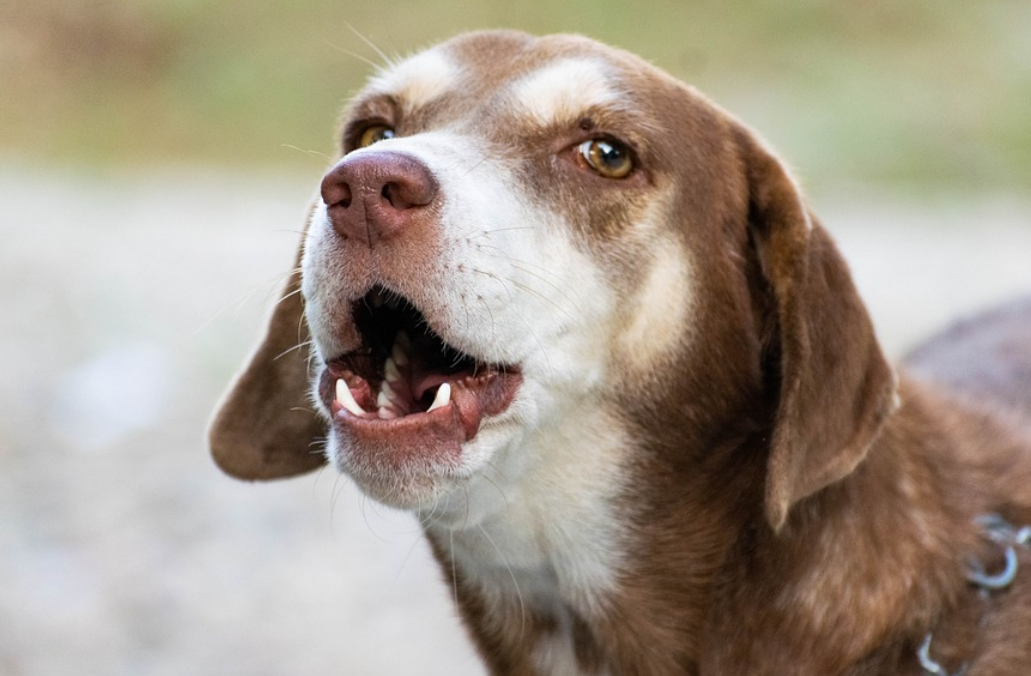
<svg viewBox="0 0 1031 676"><path fill-rule="evenodd" d="M407 299L376 286L352 308L362 344L330 360L320 396L334 427L375 452L460 452L511 403L518 369L448 345Z"/></svg>

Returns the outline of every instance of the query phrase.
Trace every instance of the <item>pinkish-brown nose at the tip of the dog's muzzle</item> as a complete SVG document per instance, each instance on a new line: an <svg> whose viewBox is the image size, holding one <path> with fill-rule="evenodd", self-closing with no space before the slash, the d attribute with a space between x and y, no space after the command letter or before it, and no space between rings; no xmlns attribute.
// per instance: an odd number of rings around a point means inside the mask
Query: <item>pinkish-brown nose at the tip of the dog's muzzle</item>
<svg viewBox="0 0 1031 676"><path fill-rule="evenodd" d="M418 222L436 195L437 181L426 165L396 151L344 158L322 182L333 229L369 246Z"/></svg>

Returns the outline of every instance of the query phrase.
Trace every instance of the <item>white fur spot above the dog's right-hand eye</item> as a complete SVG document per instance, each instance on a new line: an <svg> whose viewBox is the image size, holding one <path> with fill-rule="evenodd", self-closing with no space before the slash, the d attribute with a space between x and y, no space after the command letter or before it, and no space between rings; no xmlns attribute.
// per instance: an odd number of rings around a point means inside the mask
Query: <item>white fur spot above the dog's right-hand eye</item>
<svg viewBox="0 0 1031 676"><path fill-rule="evenodd" d="M605 66L589 59L565 59L519 79L511 96L519 109L541 126L568 122L585 110L620 98Z"/></svg>

